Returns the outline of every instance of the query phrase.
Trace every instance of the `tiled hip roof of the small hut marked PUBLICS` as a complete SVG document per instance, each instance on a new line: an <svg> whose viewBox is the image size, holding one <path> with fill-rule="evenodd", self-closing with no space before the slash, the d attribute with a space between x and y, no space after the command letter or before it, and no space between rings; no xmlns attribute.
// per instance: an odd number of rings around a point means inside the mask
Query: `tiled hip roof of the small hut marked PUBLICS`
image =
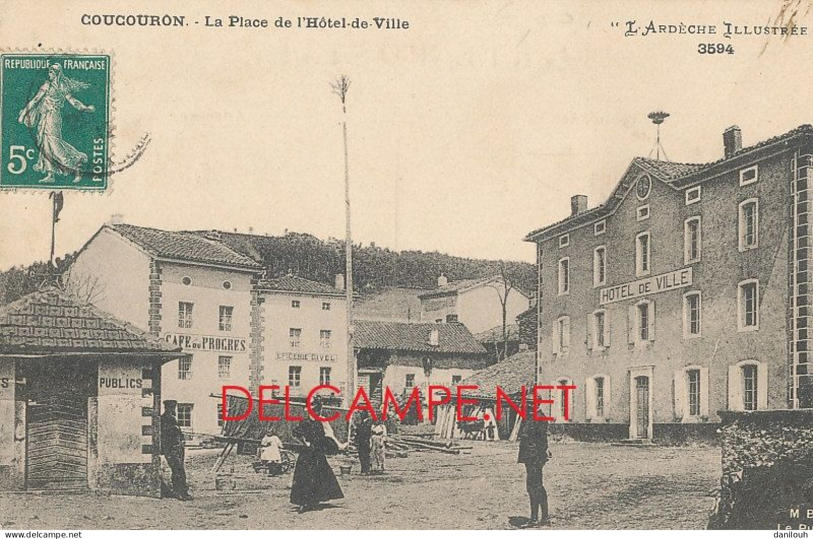
<svg viewBox="0 0 813 539"><path fill-rule="evenodd" d="M0 308L0 354L184 355L151 335L54 287Z"/></svg>

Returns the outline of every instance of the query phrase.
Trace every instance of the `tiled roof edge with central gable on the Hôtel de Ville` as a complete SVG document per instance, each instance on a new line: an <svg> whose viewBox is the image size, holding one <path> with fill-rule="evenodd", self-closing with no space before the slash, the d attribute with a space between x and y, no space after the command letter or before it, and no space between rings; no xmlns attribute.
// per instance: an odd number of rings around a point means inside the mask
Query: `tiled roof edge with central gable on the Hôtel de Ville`
<svg viewBox="0 0 813 539"><path fill-rule="evenodd" d="M672 163L669 161L658 161L655 159L645 159L637 157L629 164L627 171L624 172L621 180L615 186L613 193L607 198L606 202L599 206L590 208L578 215L569 215L563 220L559 220L553 224L534 230L525 236L525 241L534 241L535 238L543 234L554 234L565 232L567 228L579 224L589 223L590 221L599 220L603 216L615 211L624 195L632 186L633 174L631 172L649 172L653 176L662 180L667 185L672 186L674 189L683 189L686 185L702 182L711 177L711 173L717 172L719 169L729 167L734 162L745 158L746 154L752 154L755 151L767 149L772 146L789 145L797 137L813 137L813 126L809 124L800 125L798 128L792 129L788 133L778 135L776 137L768 138L765 141L758 142L753 146L747 146L741 150L718 159L711 163ZM568 227L563 225L567 224Z"/></svg>

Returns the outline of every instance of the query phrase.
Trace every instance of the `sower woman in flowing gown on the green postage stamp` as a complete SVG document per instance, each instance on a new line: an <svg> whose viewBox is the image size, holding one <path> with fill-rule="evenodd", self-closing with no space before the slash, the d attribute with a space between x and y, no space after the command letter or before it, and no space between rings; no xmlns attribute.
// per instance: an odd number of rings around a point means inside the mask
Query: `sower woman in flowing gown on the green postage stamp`
<svg viewBox="0 0 813 539"><path fill-rule="evenodd" d="M88 156L76 150L63 138L62 109L67 101L77 111L95 111L93 105L85 105L72 95L77 90L86 88L89 88L89 85L64 76L62 66L54 63L48 70L48 80L20 111L17 121L28 128L33 128L36 133L40 155L34 170L46 173L46 177L40 180L41 184L54 183L54 172L62 175L74 174L74 183L82 179L80 167L88 162Z"/></svg>

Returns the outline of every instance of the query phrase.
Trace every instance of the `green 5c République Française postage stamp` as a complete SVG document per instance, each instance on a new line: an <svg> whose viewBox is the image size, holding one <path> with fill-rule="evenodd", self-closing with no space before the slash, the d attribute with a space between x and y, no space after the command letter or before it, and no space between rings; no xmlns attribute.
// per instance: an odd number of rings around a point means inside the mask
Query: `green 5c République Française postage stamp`
<svg viewBox="0 0 813 539"><path fill-rule="evenodd" d="M106 189L110 56L0 58L0 188Z"/></svg>

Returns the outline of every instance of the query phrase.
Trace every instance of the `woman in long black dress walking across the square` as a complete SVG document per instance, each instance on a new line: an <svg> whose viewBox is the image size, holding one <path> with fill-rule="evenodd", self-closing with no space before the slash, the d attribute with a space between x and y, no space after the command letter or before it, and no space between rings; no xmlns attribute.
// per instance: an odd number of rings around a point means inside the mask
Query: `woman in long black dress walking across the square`
<svg viewBox="0 0 813 539"><path fill-rule="evenodd" d="M320 414L321 400L314 399L312 408L316 414ZM293 469L291 503L304 512L314 509L320 502L344 498L333 469L325 457L326 452L335 453L337 447L333 439L325 436L324 423L306 415L293 428L293 436L302 440L305 446L299 451L297 465Z"/></svg>

